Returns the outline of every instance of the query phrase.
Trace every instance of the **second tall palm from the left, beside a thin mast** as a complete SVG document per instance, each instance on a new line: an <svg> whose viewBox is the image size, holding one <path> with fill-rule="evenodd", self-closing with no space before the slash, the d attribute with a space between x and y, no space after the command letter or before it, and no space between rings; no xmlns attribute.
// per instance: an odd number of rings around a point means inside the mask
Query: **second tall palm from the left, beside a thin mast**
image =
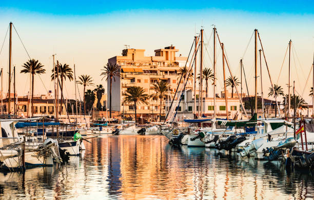
<svg viewBox="0 0 314 200"><path fill-rule="evenodd" d="M55 66L55 69L52 69L51 72L51 80L54 80L54 78L56 78L57 76L57 72L56 72L56 69L57 66ZM59 63L59 66L58 66L58 75L61 79L61 105L63 103L63 82L68 78L69 81L72 81L73 80L73 71L72 69L70 68L70 66L68 64L64 64L62 65L61 63ZM63 81L64 80L64 81ZM58 82L57 82L58 84ZM60 109L60 115L62 113L62 106L61 106L61 109Z"/></svg>

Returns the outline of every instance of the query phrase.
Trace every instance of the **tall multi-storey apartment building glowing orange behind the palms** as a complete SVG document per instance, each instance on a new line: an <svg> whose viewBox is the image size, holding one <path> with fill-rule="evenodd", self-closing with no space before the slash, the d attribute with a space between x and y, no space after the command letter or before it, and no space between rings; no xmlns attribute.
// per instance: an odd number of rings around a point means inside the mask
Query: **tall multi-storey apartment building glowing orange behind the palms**
<svg viewBox="0 0 314 200"><path fill-rule="evenodd" d="M124 49L122 56L114 56L108 62L121 65L121 79L112 82L112 110L121 112L124 117L134 117L133 104L123 104L123 94L130 86L141 86L147 95L152 95L153 84L159 81L169 83L169 93L174 92L179 84L178 71L185 66L187 57L176 56L179 49L170 46L155 50L154 56L145 56L144 49ZM181 81L183 82L183 81ZM187 90L192 88L192 79L188 80ZM107 81L109 90L110 81ZM109 107L108 93L108 107ZM162 103L162 115L165 115L165 101ZM137 120L139 117L145 121L159 118L160 100L150 98L148 104L137 106Z"/></svg>

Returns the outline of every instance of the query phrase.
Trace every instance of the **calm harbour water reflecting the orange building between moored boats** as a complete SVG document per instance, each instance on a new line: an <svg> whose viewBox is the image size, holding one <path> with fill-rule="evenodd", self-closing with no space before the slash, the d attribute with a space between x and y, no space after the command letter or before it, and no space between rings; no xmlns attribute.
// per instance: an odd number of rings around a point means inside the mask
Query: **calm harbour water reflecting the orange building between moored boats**
<svg viewBox="0 0 314 200"><path fill-rule="evenodd" d="M0 174L1 199L312 199L314 177L173 148L162 136L102 136L67 165Z"/></svg>

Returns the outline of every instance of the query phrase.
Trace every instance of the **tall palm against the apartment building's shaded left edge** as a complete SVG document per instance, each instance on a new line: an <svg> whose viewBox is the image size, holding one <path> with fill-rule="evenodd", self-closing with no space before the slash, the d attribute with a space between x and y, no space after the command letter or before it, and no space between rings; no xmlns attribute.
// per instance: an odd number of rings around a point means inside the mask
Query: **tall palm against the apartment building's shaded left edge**
<svg viewBox="0 0 314 200"><path fill-rule="evenodd" d="M104 72L101 73L101 76L104 76L102 80L106 77L106 81L108 80L108 77L110 78L110 89L109 89L109 118L111 118L111 87L112 87L112 78L115 82L115 77L121 78L120 74L120 68L121 66L116 63L108 62L106 66L104 66L104 69L102 69Z"/></svg>

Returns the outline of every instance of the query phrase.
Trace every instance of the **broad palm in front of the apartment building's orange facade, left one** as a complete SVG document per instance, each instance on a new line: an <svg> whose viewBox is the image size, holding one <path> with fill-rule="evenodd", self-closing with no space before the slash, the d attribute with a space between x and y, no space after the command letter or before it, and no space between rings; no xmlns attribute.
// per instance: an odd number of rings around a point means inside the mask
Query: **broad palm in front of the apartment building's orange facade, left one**
<svg viewBox="0 0 314 200"><path fill-rule="evenodd" d="M134 120L136 123L136 104L144 103L148 104L147 99L148 95L145 94L143 87L140 86L131 86L127 88L126 93L123 94L125 97L123 99L123 103L134 103Z"/></svg>

